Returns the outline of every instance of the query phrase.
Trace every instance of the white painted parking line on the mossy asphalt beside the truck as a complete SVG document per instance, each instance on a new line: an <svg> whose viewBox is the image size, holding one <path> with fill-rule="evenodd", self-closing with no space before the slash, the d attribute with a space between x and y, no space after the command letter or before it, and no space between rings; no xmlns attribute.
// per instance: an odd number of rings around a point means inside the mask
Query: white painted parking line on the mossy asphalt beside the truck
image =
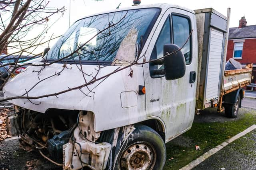
<svg viewBox="0 0 256 170"><path fill-rule="evenodd" d="M241 133L238 133L234 137L232 137L232 138L226 140L225 142L221 143L217 147L209 150L208 152L206 152L203 155L199 156L196 160L193 160L192 162L190 162L186 166L180 168L180 170L191 170L192 168L194 168L197 165L199 165L200 163L204 162L204 160L206 160L207 158L209 158L210 156L212 156L213 154L215 154L219 150L221 150L224 147L226 147L228 144L234 142L236 139L246 135L247 133L253 131L254 129L256 129L256 125L252 125L251 127L247 128L246 130L242 131Z"/></svg>

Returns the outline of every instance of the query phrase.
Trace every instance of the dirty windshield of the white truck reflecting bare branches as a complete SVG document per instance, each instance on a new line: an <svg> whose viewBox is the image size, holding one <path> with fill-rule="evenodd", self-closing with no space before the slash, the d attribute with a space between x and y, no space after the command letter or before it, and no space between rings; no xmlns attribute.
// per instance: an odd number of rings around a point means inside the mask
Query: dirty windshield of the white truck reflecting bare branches
<svg viewBox="0 0 256 170"><path fill-rule="evenodd" d="M122 57L116 56L124 55L124 48L120 48L120 45L130 43L134 49L131 50L132 57L129 57L132 61L136 55L136 47L146 39L148 29L158 12L159 9L154 8L128 10L79 20L60 38L46 57L51 60L67 57L68 61L112 62L115 58L122 60Z"/></svg>

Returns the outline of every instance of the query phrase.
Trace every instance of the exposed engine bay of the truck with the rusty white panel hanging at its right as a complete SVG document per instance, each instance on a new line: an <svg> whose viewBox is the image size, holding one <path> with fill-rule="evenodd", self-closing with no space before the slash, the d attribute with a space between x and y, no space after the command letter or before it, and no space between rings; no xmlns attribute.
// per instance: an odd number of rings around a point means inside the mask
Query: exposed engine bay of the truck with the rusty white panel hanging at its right
<svg viewBox="0 0 256 170"><path fill-rule="evenodd" d="M106 168L112 146L96 142L100 132L94 131L94 115L90 111L49 109L38 113L15 106L13 125L23 149L38 149L44 158L63 169Z"/></svg>

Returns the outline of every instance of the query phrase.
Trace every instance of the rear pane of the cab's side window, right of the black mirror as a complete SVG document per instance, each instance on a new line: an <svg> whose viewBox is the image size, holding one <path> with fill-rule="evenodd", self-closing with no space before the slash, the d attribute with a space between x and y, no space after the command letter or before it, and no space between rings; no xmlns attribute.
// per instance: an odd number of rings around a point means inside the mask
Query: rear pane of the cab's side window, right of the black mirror
<svg viewBox="0 0 256 170"><path fill-rule="evenodd" d="M178 45L180 48L186 43L190 34L190 20L183 16L172 15L172 30L173 30L173 43ZM186 64L191 63L191 37L185 46L181 49Z"/></svg>

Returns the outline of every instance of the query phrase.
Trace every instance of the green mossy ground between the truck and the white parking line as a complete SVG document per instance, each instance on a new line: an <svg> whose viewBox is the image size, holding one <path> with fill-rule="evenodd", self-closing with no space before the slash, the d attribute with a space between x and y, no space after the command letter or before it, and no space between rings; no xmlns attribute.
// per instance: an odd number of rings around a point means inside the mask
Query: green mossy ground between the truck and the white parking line
<svg viewBox="0 0 256 170"><path fill-rule="evenodd" d="M230 137L256 124L256 115L245 113L241 119L224 123L193 123L192 129L182 136L192 140L191 146L166 144L167 158L164 170L178 170ZM195 145L201 150L196 150ZM173 159L172 159L173 158Z"/></svg>

